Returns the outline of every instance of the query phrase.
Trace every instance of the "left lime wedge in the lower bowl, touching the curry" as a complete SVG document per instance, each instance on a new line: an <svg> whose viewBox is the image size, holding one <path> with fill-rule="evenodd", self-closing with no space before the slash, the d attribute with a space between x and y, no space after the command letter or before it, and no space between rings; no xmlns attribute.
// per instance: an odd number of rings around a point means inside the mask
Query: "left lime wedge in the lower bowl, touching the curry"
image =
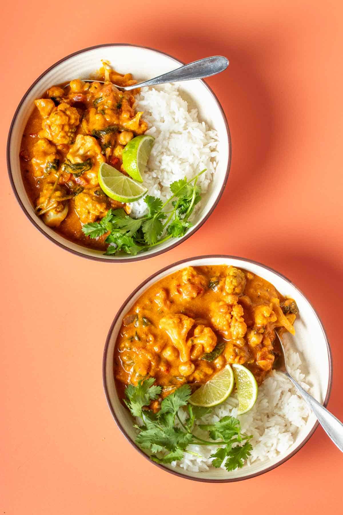
<svg viewBox="0 0 343 515"><path fill-rule="evenodd" d="M211 407L227 399L233 388L233 372L230 365L213 375L210 381L198 388L189 398L194 406Z"/></svg>

